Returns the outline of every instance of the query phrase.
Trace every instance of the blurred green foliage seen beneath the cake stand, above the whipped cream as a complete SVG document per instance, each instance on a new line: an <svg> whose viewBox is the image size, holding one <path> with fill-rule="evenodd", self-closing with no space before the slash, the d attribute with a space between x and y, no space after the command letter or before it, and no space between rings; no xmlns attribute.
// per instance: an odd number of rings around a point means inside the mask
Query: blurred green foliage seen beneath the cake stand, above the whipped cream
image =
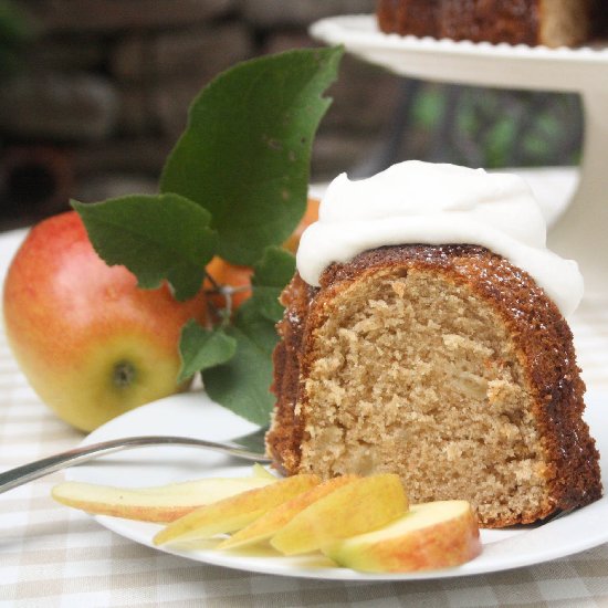
<svg viewBox="0 0 608 608"><path fill-rule="evenodd" d="M408 158L486 168L577 165L580 99L423 83L408 130L409 147L401 151Z"/></svg>

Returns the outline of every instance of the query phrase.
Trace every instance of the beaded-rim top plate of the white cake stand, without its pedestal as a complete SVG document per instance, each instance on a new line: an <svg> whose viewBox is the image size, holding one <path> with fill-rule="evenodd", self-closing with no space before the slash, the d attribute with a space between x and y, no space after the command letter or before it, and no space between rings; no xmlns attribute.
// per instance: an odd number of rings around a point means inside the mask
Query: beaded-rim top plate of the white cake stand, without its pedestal
<svg viewBox="0 0 608 608"><path fill-rule="evenodd" d="M311 34L402 75L514 88L579 91L605 82L608 49L548 49L385 34L371 14L322 19Z"/></svg>

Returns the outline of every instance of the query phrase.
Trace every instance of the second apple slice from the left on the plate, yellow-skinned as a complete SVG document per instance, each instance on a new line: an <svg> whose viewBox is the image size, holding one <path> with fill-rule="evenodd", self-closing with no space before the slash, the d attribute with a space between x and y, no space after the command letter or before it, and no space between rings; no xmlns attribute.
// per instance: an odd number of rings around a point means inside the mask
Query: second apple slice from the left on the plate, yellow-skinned
<svg viewBox="0 0 608 608"><path fill-rule="evenodd" d="M154 544L210 538L216 534L234 532L319 482L316 475L294 475L201 506L161 530L154 537Z"/></svg>

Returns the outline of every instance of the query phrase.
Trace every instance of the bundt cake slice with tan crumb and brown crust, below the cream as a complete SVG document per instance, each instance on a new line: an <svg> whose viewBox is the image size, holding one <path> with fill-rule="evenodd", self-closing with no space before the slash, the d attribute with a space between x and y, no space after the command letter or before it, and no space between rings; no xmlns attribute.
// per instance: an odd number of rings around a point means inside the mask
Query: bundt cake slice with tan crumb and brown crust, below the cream
<svg viewBox="0 0 608 608"><path fill-rule="evenodd" d="M398 473L410 501L461 499L525 524L601 495L562 313L469 244L380 247L283 293L266 438L285 474Z"/></svg>

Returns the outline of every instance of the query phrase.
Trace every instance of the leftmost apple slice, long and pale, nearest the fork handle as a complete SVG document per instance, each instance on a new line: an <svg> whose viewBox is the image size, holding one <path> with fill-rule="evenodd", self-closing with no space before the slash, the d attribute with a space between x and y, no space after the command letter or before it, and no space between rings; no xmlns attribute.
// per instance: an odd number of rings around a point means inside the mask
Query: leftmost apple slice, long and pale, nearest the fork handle
<svg viewBox="0 0 608 608"><path fill-rule="evenodd" d="M66 482L55 485L55 501L95 515L114 515L143 522L168 523L199 506L247 490L265 488L277 480L268 478L220 478L171 483L158 488L113 488Z"/></svg>

